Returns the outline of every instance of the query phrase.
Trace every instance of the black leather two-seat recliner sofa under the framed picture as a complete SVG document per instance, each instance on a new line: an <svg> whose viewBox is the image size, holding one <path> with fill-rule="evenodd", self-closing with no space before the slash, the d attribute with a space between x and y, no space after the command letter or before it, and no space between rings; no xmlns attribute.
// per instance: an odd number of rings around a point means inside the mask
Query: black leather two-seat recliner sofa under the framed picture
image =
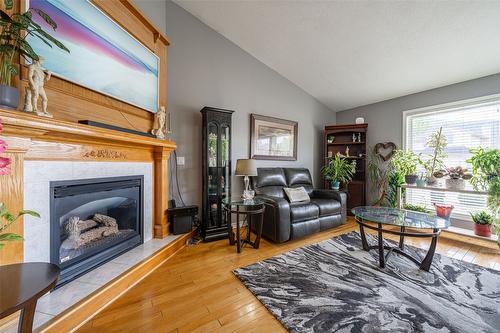
<svg viewBox="0 0 500 333"><path fill-rule="evenodd" d="M290 203L283 188L300 186L311 200ZM308 169L257 168L252 187L256 197L265 201L262 236L274 242L286 242L346 222L346 194L314 189Z"/></svg>

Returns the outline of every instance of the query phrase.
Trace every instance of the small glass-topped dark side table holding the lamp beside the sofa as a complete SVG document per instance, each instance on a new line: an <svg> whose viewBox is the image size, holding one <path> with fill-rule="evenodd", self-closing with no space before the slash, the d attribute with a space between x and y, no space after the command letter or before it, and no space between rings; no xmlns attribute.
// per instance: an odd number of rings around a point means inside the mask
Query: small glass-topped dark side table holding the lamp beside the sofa
<svg viewBox="0 0 500 333"><path fill-rule="evenodd" d="M229 232L229 245L234 245L236 243L236 250L238 253L241 252L241 247L243 244L247 243L253 246L254 249L259 248L260 237L262 235L262 225L264 223L264 201L262 199L254 198L251 200L243 199L230 199L225 198L222 200L224 205L224 212L226 213L226 221L228 225ZM236 215L236 240L234 239L235 233L232 226L232 215ZM246 217L247 221L247 234L246 237L241 239L241 221L240 216ZM255 223L255 225L254 225ZM251 231L254 231L256 236L255 240L250 240Z"/></svg>

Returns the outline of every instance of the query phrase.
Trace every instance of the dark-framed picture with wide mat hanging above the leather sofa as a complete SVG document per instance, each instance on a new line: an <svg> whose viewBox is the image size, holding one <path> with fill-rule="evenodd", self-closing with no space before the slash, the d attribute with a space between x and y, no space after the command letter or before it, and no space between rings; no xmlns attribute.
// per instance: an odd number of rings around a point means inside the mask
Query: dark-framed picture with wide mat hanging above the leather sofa
<svg viewBox="0 0 500 333"><path fill-rule="evenodd" d="M250 115L250 151L256 160L297 160L296 121Z"/></svg>

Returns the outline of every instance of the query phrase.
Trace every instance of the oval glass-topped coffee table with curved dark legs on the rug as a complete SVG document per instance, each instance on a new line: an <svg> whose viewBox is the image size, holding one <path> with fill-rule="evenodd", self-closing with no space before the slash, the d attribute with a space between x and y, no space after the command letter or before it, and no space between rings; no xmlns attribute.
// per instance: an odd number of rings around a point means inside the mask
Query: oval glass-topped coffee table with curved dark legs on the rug
<svg viewBox="0 0 500 333"><path fill-rule="evenodd" d="M436 252L437 239L441 234L441 230L448 228L450 225L449 220L438 216L390 207L355 207L352 209L352 213L356 217L356 222L359 224L363 250L370 251L378 249L379 265L381 268L385 267L385 263L389 259L391 253L396 252L413 261L420 269L429 271L432 264L432 258ZM377 226L367 224L366 222L376 223ZM368 245L365 228L377 231L377 245ZM414 229L414 231L408 231L407 228ZM418 231L415 229L418 229ZM399 236L398 246L384 245L384 233ZM404 239L406 236L432 238L431 246L424 259L417 259L408 252L405 252ZM387 253L385 253L385 250L387 250Z"/></svg>

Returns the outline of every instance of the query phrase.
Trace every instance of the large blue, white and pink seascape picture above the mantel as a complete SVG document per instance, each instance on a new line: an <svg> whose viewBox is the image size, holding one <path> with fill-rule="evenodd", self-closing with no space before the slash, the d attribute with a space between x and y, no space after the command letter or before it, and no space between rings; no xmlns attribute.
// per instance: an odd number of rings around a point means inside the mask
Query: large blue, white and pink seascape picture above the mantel
<svg viewBox="0 0 500 333"><path fill-rule="evenodd" d="M70 53L49 47L29 35L28 42L55 76L156 112L159 99L158 56L89 0L28 0L47 13L58 28L51 35ZM33 20L51 28L39 16Z"/></svg>

